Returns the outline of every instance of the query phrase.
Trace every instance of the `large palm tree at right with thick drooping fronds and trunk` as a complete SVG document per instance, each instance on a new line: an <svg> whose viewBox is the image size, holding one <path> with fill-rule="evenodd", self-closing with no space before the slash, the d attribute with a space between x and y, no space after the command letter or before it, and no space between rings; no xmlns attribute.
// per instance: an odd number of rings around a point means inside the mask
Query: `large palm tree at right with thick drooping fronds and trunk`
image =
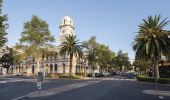
<svg viewBox="0 0 170 100"><path fill-rule="evenodd" d="M161 20L160 15L148 16L148 19L143 19L143 23L139 25L139 32L132 43L136 59L152 59L156 78L159 78L158 61L170 52L170 33L164 29L168 23L167 18Z"/></svg>

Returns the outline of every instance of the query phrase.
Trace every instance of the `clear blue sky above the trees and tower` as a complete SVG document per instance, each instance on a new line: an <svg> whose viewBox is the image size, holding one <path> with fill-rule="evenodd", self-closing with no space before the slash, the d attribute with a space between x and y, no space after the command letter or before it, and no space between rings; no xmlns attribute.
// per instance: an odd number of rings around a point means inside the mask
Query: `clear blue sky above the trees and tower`
<svg viewBox="0 0 170 100"><path fill-rule="evenodd" d="M59 45L59 25L68 15L74 21L75 33L80 41L97 37L117 53L135 53L134 41L138 25L150 15L161 15L170 20L170 0L4 0L3 13L8 15L8 45L14 46L20 38L25 22L37 15L49 24ZM170 29L170 25L166 27Z"/></svg>

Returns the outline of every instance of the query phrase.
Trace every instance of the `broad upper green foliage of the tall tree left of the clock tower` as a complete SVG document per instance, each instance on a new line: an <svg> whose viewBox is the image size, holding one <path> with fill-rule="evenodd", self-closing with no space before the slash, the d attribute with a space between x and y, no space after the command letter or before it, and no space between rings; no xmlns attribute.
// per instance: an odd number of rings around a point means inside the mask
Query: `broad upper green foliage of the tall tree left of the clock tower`
<svg viewBox="0 0 170 100"><path fill-rule="evenodd" d="M37 16L33 16L31 21L24 23L20 42L28 43L30 46L44 47L48 46L49 42L54 42L54 37L48 29L48 24Z"/></svg>

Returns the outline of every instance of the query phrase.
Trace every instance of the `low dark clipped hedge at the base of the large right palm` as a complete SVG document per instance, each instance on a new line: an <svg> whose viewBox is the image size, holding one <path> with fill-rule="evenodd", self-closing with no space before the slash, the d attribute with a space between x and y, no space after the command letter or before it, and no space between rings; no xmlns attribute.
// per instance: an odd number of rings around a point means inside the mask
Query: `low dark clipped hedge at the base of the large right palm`
<svg viewBox="0 0 170 100"><path fill-rule="evenodd" d="M155 83L156 78L154 77L137 77L138 81L141 82L149 82L149 83ZM170 84L170 78L159 78L158 83L160 84Z"/></svg>

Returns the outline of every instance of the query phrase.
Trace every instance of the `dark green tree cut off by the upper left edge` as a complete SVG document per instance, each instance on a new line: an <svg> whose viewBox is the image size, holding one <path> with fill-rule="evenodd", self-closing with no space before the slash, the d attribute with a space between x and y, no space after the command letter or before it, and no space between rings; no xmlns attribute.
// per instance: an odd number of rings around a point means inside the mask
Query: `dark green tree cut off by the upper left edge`
<svg viewBox="0 0 170 100"><path fill-rule="evenodd" d="M0 6L0 48L4 46L4 44L7 42L7 32L6 29L8 28L8 24L6 23L8 21L7 15L2 14L2 5Z"/></svg>

